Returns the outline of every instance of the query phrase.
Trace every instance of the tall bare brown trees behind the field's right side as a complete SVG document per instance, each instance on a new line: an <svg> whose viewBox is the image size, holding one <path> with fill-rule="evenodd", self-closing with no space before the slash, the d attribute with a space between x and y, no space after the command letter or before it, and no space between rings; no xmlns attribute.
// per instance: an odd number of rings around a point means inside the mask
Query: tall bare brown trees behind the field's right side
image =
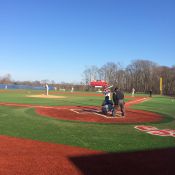
<svg viewBox="0 0 175 175"><path fill-rule="evenodd" d="M102 67L91 66L84 70L84 83L93 80L105 80L110 85L118 86L123 91L160 93L160 77L163 79L163 94L175 95L175 66L159 66L148 60L133 60L126 68L120 63L108 62ZM90 88L90 87L89 87Z"/></svg>

